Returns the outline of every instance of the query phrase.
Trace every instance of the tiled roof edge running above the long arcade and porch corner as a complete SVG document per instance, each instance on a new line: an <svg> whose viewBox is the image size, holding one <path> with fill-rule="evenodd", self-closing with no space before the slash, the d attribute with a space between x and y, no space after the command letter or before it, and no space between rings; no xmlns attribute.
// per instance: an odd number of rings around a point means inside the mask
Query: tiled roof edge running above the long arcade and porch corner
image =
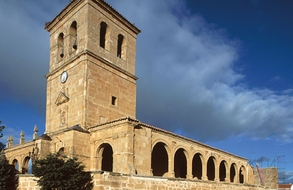
<svg viewBox="0 0 293 190"><path fill-rule="evenodd" d="M131 122L136 122L138 126L143 126L143 127L147 127L147 128L151 128L155 131L159 131L159 132L162 132L162 133L165 133L165 134L168 134L168 135L171 135L171 136L174 136L174 137L177 137L179 139L183 139L185 141L188 141L188 142L191 142L191 143L194 143L194 144L197 144L197 145L200 145L202 147L206 147L206 148L210 148L210 149L213 149L213 150L217 150L217 151L220 151L222 153L226 153L230 156L235 156L237 158L240 158L240 159L244 159L244 160L247 160L246 158L243 158L241 156L237 156L235 154L231 154L230 152L226 152L224 150L221 150L221 149L218 149L218 148L214 148L214 147L211 147L209 145L206 145L204 143L201 143L201 142L198 142L198 141L195 141L193 139L189 139L187 137L184 137L184 136L181 136L181 135L178 135L176 133L172 133L170 131L167 131L167 130L164 130L164 129L161 129L159 127L154 127L154 126L150 126L150 125L147 125L147 124L144 124L142 122L140 122L138 119L135 119L135 118L131 118L129 116L126 116L126 117L122 117L122 118L119 118L119 119L115 119L115 120L111 120L111 121L108 121L108 122L105 122L103 124L100 124L100 125L96 125L96 126L93 126L93 127L89 127L88 129L93 129L93 128L97 128L97 127L101 127L101 126L105 126L105 125L108 125L108 124L112 124L112 123L116 123L116 122L119 122L119 121L123 121L123 120L128 120L128 121L131 121Z"/></svg>

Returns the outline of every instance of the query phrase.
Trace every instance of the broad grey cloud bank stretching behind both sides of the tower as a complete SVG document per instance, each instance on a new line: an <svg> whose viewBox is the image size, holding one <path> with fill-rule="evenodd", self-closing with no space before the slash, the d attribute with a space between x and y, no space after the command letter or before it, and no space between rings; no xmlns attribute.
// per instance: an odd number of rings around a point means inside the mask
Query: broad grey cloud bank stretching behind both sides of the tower
<svg viewBox="0 0 293 190"><path fill-rule="evenodd" d="M4 95L42 112L49 65L44 21L52 20L65 2L0 2ZM190 15L183 1L109 3L143 30L137 36L138 119L200 141L241 135L292 141L292 91L247 86L233 68L241 59L240 44L225 30Z"/></svg>

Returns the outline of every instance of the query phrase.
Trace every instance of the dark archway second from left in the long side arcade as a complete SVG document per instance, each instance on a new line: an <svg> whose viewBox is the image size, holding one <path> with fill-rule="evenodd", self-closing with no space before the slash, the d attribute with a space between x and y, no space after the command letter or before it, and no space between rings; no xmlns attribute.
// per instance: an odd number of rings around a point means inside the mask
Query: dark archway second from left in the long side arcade
<svg viewBox="0 0 293 190"><path fill-rule="evenodd" d="M187 175L187 158L185 152L185 149L179 148L174 155L174 172L177 178L186 178Z"/></svg>

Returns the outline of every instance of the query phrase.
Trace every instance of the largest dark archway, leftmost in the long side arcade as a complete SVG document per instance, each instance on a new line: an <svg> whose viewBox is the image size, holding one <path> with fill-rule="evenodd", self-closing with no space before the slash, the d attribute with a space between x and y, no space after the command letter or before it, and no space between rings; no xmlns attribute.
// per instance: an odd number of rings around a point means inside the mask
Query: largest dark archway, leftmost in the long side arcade
<svg viewBox="0 0 293 190"><path fill-rule="evenodd" d="M151 171L153 176L166 176L168 172L168 153L166 144L157 143L151 152Z"/></svg>

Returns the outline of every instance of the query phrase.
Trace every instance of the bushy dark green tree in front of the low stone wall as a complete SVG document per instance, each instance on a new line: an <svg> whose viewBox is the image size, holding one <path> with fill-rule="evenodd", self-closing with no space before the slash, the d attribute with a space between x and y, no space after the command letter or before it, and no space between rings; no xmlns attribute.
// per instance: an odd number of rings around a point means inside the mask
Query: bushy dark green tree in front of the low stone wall
<svg viewBox="0 0 293 190"><path fill-rule="evenodd" d="M42 190L91 190L92 176L84 171L84 165L76 157L69 158L60 153L50 153L36 160L32 172L39 177Z"/></svg>

